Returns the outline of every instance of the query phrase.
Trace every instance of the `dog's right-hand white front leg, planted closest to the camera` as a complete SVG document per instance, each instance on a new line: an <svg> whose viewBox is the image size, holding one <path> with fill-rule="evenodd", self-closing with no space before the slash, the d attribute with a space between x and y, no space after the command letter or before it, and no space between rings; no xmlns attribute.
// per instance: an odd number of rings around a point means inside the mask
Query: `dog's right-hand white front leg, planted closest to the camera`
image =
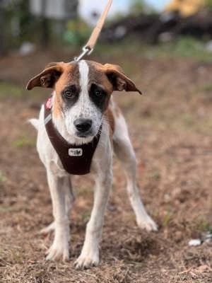
<svg viewBox="0 0 212 283"><path fill-rule="evenodd" d="M105 167L107 168L107 166ZM102 236L105 208L112 186L112 165L110 164L105 171L101 171L97 176L93 210L86 227L86 239L81 255L75 262L77 269L97 266L100 262L99 243Z"/></svg>

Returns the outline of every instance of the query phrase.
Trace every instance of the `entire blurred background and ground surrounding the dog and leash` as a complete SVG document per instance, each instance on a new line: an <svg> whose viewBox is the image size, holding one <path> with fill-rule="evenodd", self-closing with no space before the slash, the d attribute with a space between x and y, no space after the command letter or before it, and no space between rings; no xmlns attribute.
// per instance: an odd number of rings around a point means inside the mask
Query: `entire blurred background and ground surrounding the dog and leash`
<svg viewBox="0 0 212 283"><path fill-rule="evenodd" d="M0 282L212 282L212 0L113 1L88 59L118 64L143 92L114 99L129 125L143 202L160 230L136 227L114 161L100 267L81 276L72 268L93 203L89 176L73 178L71 262L45 262L52 236L37 231L52 221L52 207L27 121L51 91L25 85L49 62L81 53L105 4L0 0Z"/></svg>

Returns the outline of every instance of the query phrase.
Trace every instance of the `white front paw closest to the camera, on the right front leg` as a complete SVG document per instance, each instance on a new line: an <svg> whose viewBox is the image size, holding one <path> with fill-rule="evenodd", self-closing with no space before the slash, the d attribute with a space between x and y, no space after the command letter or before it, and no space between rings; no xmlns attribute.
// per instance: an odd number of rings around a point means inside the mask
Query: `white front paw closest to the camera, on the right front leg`
<svg viewBox="0 0 212 283"><path fill-rule="evenodd" d="M98 266L100 263L99 250L88 248L88 250L82 251L81 255L78 257L74 266L77 270L88 269L90 267Z"/></svg>

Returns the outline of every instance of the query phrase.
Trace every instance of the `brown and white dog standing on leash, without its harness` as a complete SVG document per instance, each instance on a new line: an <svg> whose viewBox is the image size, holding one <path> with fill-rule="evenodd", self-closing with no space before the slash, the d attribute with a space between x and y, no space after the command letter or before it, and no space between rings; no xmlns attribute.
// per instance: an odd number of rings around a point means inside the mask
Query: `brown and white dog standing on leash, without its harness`
<svg viewBox="0 0 212 283"><path fill-rule="evenodd" d="M103 218L112 186L113 150L121 161L127 180L127 192L141 229L157 231L157 225L148 216L136 185L136 156L129 140L126 122L112 100L113 91L139 91L120 67L81 60L71 63L52 63L28 83L54 88L52 120L54 127L71 144L85 144L93 140L102 125L98 147L91 171L95 180L95 197L86 238L76 268L97 266L100 262L99 244ZM70 175L64 171L45 130L44 106L39 120L30 122L37 128L37 151L47 170L52 197L54 222L42 232L54 230L54 242L47 260L69 259L69 212L73 206Z"/></svg>

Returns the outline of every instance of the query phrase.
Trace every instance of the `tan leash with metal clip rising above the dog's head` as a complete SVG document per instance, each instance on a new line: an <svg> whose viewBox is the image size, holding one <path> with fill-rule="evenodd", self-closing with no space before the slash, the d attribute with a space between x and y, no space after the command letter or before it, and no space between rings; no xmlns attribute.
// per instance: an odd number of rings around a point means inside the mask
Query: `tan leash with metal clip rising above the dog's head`
<svg viewBox="0 0 212 283"><path fill-rule="evenodd" d="M85 57L86 55L90 55L93 52L93 49L98 40L98 37L100 36L100 33L102 31L103 25L105 23L107 14L110 11L111 6L112 6L112 0L108 0L107 6L105 7L105 11L103 11L102 16L100 16L100 19L93 30L93 33L90 35L88 42L83 47L83 52L78 57L74 58L76 62L80 61L81 59L83 59L83 57Z"/></svg>

